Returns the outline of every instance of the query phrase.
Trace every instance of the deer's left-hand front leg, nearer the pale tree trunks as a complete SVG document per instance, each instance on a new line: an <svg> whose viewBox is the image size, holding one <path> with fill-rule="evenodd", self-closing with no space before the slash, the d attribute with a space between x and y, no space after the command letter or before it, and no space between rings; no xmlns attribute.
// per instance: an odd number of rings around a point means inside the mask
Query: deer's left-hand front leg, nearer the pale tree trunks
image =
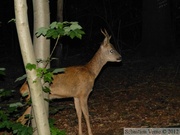
<svg viewBox="0 0 180 135"><path fill-rule="evenodd" d="M74 104L76 108L76 113L78 117L78 127L79 127L79 135L82 135L82 110L80 106L80 101L78 98L74 98Z"/></svg>

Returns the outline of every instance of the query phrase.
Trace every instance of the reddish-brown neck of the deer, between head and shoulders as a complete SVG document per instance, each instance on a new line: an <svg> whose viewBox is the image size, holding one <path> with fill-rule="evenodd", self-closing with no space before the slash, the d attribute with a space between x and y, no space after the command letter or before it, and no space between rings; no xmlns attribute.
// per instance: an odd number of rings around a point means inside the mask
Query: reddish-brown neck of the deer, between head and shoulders
<svg viewBox="0 0 180 135"><path fill-rule="evenodd" d="M86 64L86 67L96 78L106 63L107 61L103 57L102 50L99 49L94 57Z"/></svg>

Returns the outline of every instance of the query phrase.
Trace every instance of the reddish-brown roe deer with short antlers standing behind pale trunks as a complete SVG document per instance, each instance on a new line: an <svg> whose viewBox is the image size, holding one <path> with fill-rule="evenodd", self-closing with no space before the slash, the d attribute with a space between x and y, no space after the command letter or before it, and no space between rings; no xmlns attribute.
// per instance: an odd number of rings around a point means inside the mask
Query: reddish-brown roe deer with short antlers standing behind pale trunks
<svg viewBox="0 0 180 135"><path fill-rule="evenodd" d="M53 82L50 86L50 99L73 97L75 109L78 117L79 135L82 135L82 113L86 120L88 135L92 135L87 100L92 91L94 80L100 70L107 62L120 62L121 55L115 50L110 43L111 36L107 31L102 31L105 36L100 48L94 57L83 66L71 66L65 68L64 73L53 76ZM21 87L20 92L29 92L27 83ZM29 97L28 97L29 98ZM19 122L25 123L25 114L30 114L31 107L18 119Z"/></svg>

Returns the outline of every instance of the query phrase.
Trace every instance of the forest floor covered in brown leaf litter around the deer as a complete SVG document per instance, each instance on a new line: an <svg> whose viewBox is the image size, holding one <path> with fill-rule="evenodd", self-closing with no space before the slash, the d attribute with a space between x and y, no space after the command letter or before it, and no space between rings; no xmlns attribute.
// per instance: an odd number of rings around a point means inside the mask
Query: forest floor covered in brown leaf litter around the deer
<svg viewBox="0 0 180 135"><path fill-rule="evenodd" d="M96 79L88 106L94 135L122 135L123 128L180 127L180 56L131 57L107 64ZM73 99L55 100L50 110L56 127L77 135ZM87 134L84 119L83 133Z"/></svg>

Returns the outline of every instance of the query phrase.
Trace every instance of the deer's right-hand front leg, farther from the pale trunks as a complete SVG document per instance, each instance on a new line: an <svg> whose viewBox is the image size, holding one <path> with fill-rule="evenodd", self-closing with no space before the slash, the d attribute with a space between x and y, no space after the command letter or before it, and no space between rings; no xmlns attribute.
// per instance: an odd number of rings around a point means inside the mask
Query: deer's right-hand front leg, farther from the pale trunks
<svg viewBox="0 0 180 135"><path fill-rule="evenodd" d="M88 105L87 105L87 97L80 98L80 105L81 105L82 112L84 114L84 118L86 120L88 135L93 135L92 131L91 131L90 122L89 122L89 111L88 111Z"/></svg>

